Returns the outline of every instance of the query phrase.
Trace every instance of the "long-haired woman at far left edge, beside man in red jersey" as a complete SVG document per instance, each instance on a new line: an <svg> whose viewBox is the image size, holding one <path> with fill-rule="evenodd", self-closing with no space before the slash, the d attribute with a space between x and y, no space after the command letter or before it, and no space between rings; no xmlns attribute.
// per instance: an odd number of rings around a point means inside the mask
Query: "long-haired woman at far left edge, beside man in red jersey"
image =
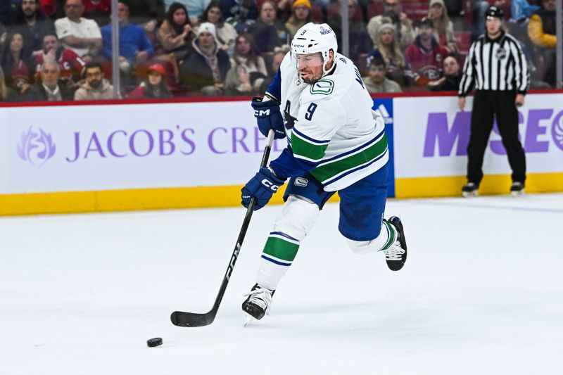
<svg viewBox="0 0 563 375"><path fill-rule="evenodd" d="M22 95L33 83L33 65L30 53L25 49L25 40L20 32L11 32L6 37L0 54L0 65L4 70L6 85Z"/></svg>

